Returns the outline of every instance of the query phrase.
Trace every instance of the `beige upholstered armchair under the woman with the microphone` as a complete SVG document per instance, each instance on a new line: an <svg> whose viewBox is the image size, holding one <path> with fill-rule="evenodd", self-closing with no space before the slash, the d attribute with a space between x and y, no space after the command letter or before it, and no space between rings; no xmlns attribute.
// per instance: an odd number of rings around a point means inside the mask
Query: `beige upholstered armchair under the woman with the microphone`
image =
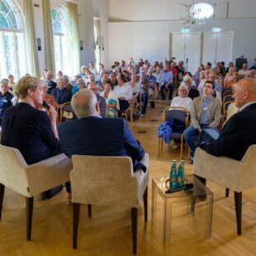
<svg viewBox="0 0 256 256"><path fill-rule="evenodd" d="M4 188L26 197L26 239L31 240L34 196L69 182L72 162L64 154L27 165L18 149L0 145L0 220Z"/></svg>

